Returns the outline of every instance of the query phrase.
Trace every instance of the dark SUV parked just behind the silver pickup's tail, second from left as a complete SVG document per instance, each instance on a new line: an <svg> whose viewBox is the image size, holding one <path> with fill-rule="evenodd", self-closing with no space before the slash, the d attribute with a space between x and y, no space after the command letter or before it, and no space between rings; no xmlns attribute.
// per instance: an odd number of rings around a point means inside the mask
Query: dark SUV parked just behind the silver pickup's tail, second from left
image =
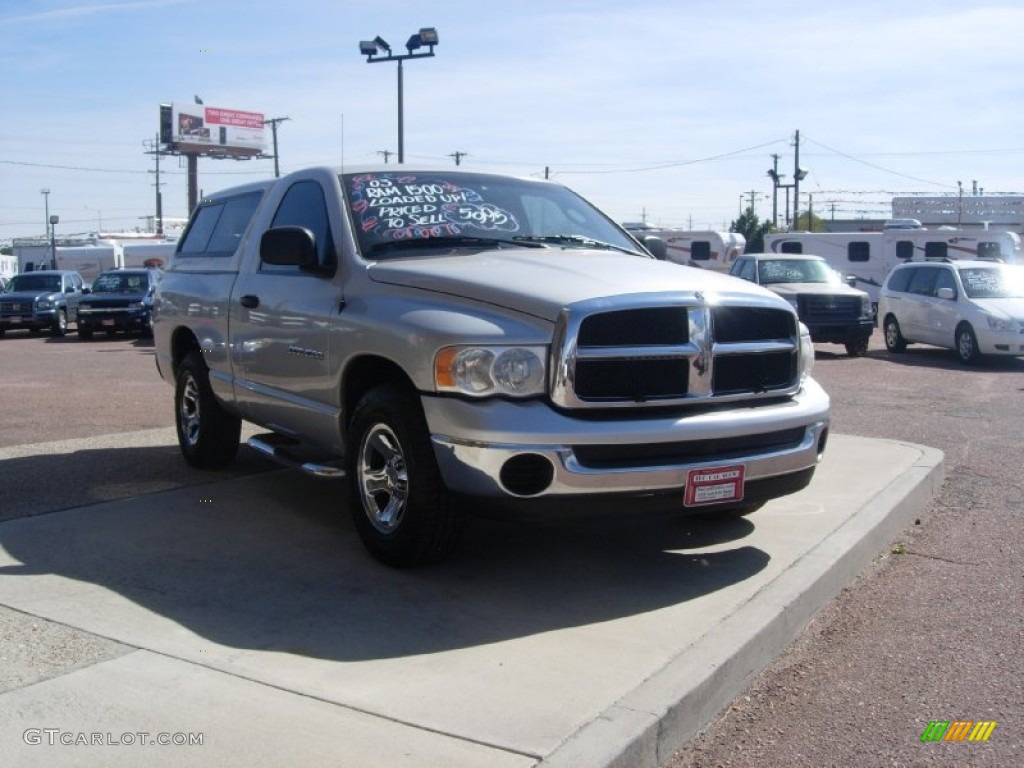
<svg viewBox="0 0 1024 768"><path fill-rule="evenodd" d="M87 341L96 331L153 334L153 292L160 279L156 269L110 269L92 282L92 293L78 308L78 338Z"/></svg>

